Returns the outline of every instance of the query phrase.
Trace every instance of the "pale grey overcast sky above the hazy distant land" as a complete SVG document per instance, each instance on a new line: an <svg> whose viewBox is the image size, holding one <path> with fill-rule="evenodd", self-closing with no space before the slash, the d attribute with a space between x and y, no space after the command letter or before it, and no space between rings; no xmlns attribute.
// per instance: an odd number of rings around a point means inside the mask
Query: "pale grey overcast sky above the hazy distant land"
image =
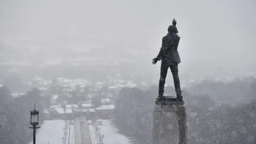
<svg viewBox="0 0 256 144"><path fill-rule="evenodd" d="M138 62L159 73L151 59L175 18L180 71L250 69L256 53L255 6L255 1L1 0L0 60Z"/></svg>

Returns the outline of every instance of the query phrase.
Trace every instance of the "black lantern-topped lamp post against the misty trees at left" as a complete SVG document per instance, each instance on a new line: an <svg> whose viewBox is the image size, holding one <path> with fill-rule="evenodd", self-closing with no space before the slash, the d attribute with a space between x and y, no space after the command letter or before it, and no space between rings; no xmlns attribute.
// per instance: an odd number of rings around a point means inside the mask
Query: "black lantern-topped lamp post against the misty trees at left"
<svg viewBox="0 0 256 144"><path fill-rule="evenodd" d="M40 128L37 127L39 124L39 110L36 110L36 103L34 110L30 110L30 124L33 127L29 127L30 129L33 129L33 144L36 144L36 129Z"/></svg>

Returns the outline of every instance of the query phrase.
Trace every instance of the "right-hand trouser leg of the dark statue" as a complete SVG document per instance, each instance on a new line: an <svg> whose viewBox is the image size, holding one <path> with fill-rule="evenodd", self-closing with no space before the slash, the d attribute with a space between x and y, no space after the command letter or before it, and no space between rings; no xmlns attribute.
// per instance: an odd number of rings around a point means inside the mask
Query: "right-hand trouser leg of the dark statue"
<svg viewBox="0 0 256 144"><path fill-rule="evenodd" d="M181 96L181 90L180 90L180 78L179 78L179 74L178 74L178 72L179 72L178 65L171 65L170 68L171 68L171 71L172 71L175 92L177 94L177 97L180 97Z"/></svg>

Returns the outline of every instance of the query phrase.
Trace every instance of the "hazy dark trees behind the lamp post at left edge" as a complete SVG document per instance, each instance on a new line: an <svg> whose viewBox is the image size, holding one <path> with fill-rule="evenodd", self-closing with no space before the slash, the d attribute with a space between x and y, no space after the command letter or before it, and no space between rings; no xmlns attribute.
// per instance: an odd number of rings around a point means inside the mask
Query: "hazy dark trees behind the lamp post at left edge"
<svg viewBox="0 0 256 144"><path fill-rule="evenodd" d="M7 87L0 87L0 143L29 143L33 138L30 126L30 110L39 110L39 123L43 123L44 113L41 93L38 89L29 91L22 97L13 98Z"/></svg>

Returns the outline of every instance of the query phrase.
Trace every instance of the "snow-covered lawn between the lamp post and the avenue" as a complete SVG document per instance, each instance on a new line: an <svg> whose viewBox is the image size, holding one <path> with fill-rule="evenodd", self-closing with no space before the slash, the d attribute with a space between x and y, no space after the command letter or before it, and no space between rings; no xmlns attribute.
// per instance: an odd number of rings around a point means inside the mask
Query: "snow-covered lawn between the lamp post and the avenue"
<svg viewBox="0 0 256 144"><path fill-rule="evenodd" d="M33 141L31 141L29 144L32 143ZM65 122L61 119L55 119L53 121L44 121L44 123L41 125L41 128L37 129L36 143L74 144L74 125L69 125L69 121Z"/></svg>

